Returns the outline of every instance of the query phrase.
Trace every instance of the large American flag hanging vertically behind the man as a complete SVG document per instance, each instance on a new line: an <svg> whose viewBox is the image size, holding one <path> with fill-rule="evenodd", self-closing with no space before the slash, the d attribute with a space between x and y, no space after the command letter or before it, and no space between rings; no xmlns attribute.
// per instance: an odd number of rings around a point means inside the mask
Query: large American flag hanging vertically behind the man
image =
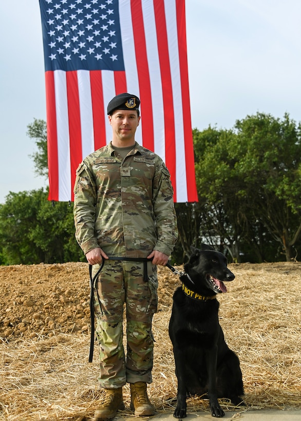
<svg viewBox="0 0 301 421"><path fill-rule="evenodd" d="M141 100L136 140L170 170L176 202L197 201L184 0L40 0L49 200L72 201L79 163L111 140L106 106Z"/></svg>

